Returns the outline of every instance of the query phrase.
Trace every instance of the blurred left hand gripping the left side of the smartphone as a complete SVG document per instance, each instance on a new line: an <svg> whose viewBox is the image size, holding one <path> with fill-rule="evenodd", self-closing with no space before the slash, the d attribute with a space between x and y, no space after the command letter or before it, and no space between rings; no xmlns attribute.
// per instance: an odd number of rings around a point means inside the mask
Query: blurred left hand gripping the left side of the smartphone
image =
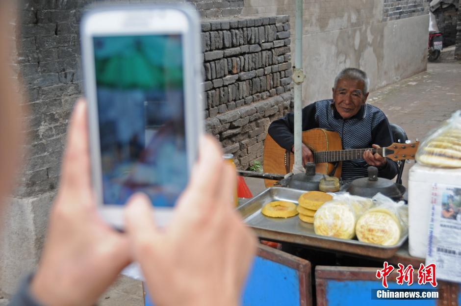
<svg viewBox="0 0 461 306"><path fill-rule="evenodd" d="M93 305L130 261L128 237L98 215L88 154L86 105L79 101L45 248L31 283L32 294L43 305Z"/></svg>

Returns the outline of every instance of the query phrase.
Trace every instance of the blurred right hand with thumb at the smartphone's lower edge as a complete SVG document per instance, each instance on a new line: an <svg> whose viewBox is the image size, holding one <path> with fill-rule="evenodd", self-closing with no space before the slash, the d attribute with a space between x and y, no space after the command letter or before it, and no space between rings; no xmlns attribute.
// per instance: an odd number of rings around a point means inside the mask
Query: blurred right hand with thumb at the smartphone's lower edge
<svg viewBox="0 0 461 306"><path fill-rule="evenodd" d="M239 304L256 238L231 201L235 184L235 170L222 160L217 142L206 136L168 227L156 227L145 195L129 200L125 224L130 249L156 305Z"/></svg>

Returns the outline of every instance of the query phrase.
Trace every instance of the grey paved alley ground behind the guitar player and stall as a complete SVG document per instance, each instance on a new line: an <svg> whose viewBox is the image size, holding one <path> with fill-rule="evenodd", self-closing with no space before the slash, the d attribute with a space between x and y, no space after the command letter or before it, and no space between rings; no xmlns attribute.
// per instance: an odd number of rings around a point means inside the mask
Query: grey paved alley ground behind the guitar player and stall
<svg viewBox="0 0 461 306"><path fill-rule="evenodd" d="M461 109L461 61L452 58L452 50L443 52L441 60L428 63L427 71L371 92L368 102L383 110L390 123L402 127L410 140L425 139L432 129ZM405 186L412 165L414 162L405 164ZM261 179L246 181L253 195L264 189Z"/></svg>

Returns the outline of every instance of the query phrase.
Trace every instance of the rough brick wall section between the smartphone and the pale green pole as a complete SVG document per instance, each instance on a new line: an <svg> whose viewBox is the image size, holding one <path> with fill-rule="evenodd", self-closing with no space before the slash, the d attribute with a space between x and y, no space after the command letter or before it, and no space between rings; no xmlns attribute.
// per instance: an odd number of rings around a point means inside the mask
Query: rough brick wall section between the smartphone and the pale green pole
<svg viewBox="0 0 461 306"><path fill-rule="evenodd" d="M291 101L288 16L202 24L206 129L246 169Z"/></svg>

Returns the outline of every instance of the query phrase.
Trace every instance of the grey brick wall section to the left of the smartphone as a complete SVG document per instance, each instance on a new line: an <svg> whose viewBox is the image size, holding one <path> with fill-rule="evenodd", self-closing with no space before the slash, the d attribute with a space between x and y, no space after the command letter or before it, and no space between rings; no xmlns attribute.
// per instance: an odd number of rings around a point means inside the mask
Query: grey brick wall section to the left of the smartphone
<svg viewBox="0 0 461 306"><path fill-rule="evenodd" d="M82 91L77 1L25 1L17 63L26 87L28 141L17 197L56 188L72 105Z"/></svg>

